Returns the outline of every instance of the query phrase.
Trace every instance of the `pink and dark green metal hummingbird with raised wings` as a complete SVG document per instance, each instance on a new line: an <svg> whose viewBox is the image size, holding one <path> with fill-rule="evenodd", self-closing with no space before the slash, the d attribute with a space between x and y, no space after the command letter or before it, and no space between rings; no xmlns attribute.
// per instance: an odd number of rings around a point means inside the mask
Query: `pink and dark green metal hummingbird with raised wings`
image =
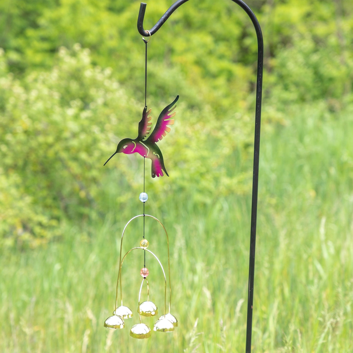
<svg viewBox="0 0 353 353"><path fill-rule="evenodd" d="M164 167L162 152L156 143L160 141L163 136L166 136L167 132L170 131L170 127L168 127L168 125L174 124L174 119L170 118L173 118L173 116L175 115L175 112L173 113L173 110L176 107L174 106L174 104L177 102L178 98L179 96L177 96L172 103L170 103L162 110L161 114L158 116L158 120L154 130L152 131L150 136L144 140L144 138L150 133L152 125L151 116L149 116L152 109L149 109L147 111L147 107L145 107L143 109L142 119L138 123L138 136L135 139L122 139L118 143L118 147L116 148L115 153L109 157L108 161L115 154L120 152L125 154L138 153L142 157L149 158L152 161L152 178L156 176L162 177L162 170L164 170L164 172L169 177L166 167ZM104 166L107 164L107 162L104 163Z"/></svg>

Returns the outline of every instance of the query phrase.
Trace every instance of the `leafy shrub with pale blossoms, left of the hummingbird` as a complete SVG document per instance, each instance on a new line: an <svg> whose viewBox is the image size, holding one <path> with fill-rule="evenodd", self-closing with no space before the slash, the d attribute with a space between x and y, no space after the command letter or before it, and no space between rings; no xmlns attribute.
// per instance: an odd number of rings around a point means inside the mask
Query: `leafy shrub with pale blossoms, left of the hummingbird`
<svg viewBox="0 0 353 353"><path fill-rule="evenodd" d="M62 213L83 216L94 207L97 166L133 104L111 70L93 67L79 45L73 55L61 48L58 65L22 82L2 66L0 239L46 241Z"/></svg>

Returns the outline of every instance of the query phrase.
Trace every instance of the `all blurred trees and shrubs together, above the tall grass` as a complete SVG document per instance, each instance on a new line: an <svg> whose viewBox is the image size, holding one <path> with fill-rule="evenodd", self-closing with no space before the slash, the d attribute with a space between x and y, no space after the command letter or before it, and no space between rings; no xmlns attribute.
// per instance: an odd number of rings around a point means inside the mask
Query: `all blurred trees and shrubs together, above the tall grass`
<svg viewBox="0 0 353 353"><path fill-rule="evenodd" d="M170 4L148 4L145 26ZM324 99L332 111L352 102L347 2L250 5L265 37L265 124L286 124L294 102ZM119 139L134 137L143 106L144 46L134 25L139 3L0 6L0 239L35 246L60 234L62 217L104 210L109 191L100 183L101 164ZM148 47L152 116L181 96L169 143L161 143L173 179L156 192L170 184L173 192L191 187L192 198L203 202L249 192L257 44L246 14L229 1L187 2ZM108 168L118 163L118 178L138 187L135 157L118 158Z"/></svg>

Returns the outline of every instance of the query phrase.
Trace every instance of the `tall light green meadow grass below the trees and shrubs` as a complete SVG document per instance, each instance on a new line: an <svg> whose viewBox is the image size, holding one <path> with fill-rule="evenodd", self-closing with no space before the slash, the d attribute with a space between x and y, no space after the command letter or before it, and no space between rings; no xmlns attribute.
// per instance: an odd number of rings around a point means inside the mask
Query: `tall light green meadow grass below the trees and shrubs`
<svg viewBox="0 0 353 353"><path fill-rule="evenodd" d="M319 104L288 107L285 124L264 114L253 352L353 351L352 116ZM242 158L234 152L228 171L239 162L249 172L251 158ZM129 336L138 322L138 252L122 274L134 317L123 330L103 327L114 309L121 231L141 212L137 195L127 195L129 202L118 203L119 189L110 190L105 219L67 224L61 241L1 253L1 352L245 351L250 195L196 202L192 185L158 200L159 207L150 193L146 203L169 233L179 327L148 340ZM128 228L124 250L138 245L141 225ZM167 267L161 229L146 221L146 238ZM162 313L160 269L149 257L147 267L151 300ZM143 318L150 327L154 321Z"/></svg>

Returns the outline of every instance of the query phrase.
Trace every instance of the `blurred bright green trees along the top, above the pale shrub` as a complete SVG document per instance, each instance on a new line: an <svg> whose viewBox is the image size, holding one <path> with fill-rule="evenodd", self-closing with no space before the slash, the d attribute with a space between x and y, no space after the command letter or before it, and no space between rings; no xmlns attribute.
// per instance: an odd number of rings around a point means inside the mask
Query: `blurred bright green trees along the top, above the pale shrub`
<svg viewBox="0 0 353 353"><path fill-rule="evenodd" d="M145 26L154 24L172 3L151 1ZM350 91L353 25L349 2L301 0L299 6L297 0L260 0L249 4L264 31L267 89L276 86L289 91L293 100L337 98ZM1 46L12 72L50 68L60 46L80 43L92 50L94 64L112 67L121 83L141 90L144 57L135 28L138 1L17 0L4 1L1 7ZM231 1L187 2L154 37L150 49L150 67L156 66L156 72L150 70L151 95L169 98L171 87L165 77L170 70L183 72L185 84L216 107L233 106L253 90L256 38L247 15Z"/></svg>

